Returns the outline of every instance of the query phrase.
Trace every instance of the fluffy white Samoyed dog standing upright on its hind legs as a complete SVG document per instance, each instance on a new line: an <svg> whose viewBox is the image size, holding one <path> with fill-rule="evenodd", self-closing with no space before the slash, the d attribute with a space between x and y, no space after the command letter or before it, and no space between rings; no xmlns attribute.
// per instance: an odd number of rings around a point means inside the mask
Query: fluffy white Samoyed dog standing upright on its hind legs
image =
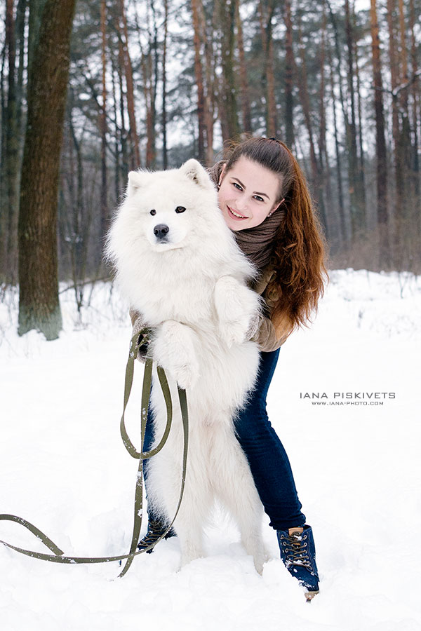
<svg viewBox="0 0 421 631"><path fill-rule="evenodd" d="M239 525L243 546L261 573L262 504L233 425L258 372L258 347L248 337L261 300L247 286L255 269L225 224L215 186L200 163L129 173L106 254L121 292L154 330L148 351L154 360L154 446L166 426L155 364L166 370L173 402L177 383L187 393L187 474L174 523L182 565L203 556L203 527L218 499ZM154 513L168 523L182 477L178 405L173 413L168 442L148 463L147 484Z"/></svg>

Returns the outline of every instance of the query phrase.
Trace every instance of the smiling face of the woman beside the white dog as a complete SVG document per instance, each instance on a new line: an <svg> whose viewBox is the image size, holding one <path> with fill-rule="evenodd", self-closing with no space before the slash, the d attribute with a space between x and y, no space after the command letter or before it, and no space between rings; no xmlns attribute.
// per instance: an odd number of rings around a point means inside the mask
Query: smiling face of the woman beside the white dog
<svg viewBox="0 0 421 631"><path fill-rule="evenodd" d="M244 230L264 222L281 204L279 184L278 175L245 156L228 172L222 170L218 205L227 226Z"/></svg>

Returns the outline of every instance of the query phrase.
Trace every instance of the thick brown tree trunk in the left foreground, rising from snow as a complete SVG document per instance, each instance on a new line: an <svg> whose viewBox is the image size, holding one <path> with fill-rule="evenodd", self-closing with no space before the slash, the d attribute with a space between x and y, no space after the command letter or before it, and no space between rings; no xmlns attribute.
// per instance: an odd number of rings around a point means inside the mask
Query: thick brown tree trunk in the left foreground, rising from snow
<svg viewBox="0 0 421 631"><path fill-rule="evenodd" d="M56 339L57 205L69 49L76 0L46 0L33 51L27 98L19 214L19 334L31 329Z"/></svg>

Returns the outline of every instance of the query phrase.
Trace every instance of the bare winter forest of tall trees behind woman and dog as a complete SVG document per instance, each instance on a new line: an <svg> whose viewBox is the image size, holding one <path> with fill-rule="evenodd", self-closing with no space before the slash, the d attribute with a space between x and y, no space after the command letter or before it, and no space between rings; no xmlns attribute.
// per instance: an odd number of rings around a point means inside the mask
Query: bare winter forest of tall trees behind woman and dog
<svg viewBox="0 0 421 631"><path fill-rule="evenodd" d="M58 278L83 301L128 170L210 166L244 134L298 156L331 267L420 272L419 0L54 5L2 16L2 284L24 290L20 256L49 308Z"/></svg>

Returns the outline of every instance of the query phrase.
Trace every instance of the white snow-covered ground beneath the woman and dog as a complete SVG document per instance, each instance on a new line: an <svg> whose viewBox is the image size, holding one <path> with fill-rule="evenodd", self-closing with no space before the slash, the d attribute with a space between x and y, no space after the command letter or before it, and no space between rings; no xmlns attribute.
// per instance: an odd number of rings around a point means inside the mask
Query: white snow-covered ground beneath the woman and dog
<svg viewBox="0 0 421 631"><path fill-rule="evenodd" d="M96 285L78 322L64 292L62 334L46 342L18 337L17 303L10 293L0 303L0 513L25 517L67 555L125 552L137 468L119 435L126 305ZM114 581L116 563L51 564L0 546L1 629L421 629L420 347L420 278L340 270L314 325L281 348L268 411L314 530L321 592L311 604L267 520L273 558L259 576L232 522L216 515L208 557L177 571L173 538ZM138 365L133 437L141 380ZM0 522L0 538L47 551L11 522Z"/></svg>

